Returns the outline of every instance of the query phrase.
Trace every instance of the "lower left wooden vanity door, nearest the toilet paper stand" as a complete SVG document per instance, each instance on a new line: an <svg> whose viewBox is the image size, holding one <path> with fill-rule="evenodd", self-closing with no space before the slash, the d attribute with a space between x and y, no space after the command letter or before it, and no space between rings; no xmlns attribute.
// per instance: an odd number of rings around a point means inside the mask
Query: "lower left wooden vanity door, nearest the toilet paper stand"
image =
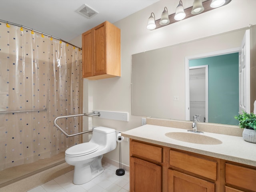
<svg viewBox="0 0 256 192"><path fill-rule="evenodd" d="M130 191L161 192L162 167L138 158L130 157Z"/></svg>

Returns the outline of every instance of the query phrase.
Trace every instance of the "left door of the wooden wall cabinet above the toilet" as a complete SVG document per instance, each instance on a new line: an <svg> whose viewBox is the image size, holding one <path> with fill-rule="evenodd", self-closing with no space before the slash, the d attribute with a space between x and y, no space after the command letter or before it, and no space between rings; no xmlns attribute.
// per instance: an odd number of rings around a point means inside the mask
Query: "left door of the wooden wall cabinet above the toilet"
<svg viewBox="0 0 256 192"><path fill-rule="evenodd" d="M93 76L93 30L82 34L83 78Z"/></svg>

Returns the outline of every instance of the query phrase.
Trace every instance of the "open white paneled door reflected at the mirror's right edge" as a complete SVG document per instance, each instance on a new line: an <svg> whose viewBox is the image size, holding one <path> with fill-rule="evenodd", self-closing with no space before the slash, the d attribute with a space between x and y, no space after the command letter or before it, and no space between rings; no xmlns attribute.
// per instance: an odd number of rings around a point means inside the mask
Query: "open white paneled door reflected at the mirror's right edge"
<svg viewBox="0 0 256 192"><path fill-rule="evenodd" d="M250 113L250 30L246 30L239 50L239 112Z"/></svg>

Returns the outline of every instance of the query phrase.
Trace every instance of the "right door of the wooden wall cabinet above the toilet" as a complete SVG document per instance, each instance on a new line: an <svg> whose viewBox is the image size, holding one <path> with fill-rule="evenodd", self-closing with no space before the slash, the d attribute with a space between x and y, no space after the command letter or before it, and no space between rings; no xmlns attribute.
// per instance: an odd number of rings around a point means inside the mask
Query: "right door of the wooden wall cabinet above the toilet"
<svg viewBox="0 0 256 192"><path fill-rule="evenodd" d="M106 22L94 28L94 76L106 74Z"/></svg>

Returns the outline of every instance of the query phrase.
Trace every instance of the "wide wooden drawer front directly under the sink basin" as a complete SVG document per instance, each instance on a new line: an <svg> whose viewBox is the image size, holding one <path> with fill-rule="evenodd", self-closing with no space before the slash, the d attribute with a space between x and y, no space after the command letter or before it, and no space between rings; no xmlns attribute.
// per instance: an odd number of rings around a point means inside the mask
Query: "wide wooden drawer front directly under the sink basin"
<svg viewBox="0 0 256 192"><path fill-rule="evenodd" d="M174 166L206 178L216 180L217 162L170 150L170 166Z"/></svg>

